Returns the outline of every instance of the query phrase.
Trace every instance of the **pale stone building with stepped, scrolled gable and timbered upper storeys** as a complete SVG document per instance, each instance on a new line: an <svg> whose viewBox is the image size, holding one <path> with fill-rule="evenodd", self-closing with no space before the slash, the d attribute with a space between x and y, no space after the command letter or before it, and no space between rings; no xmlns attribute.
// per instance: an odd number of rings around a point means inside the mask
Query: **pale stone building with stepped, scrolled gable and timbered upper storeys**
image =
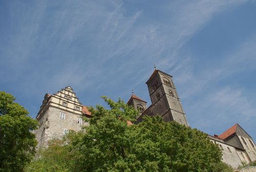
<svg viewBox="0 0 256 172"><path fill-rule="evenodd" d="M91 117L87 107L79 102L71 87L61 89L56 94L46 94L36 116L39 128L35 131L37 147L47 145L53 138L61 138L70 130L79 131L87 125L82 116Z"/></svg>

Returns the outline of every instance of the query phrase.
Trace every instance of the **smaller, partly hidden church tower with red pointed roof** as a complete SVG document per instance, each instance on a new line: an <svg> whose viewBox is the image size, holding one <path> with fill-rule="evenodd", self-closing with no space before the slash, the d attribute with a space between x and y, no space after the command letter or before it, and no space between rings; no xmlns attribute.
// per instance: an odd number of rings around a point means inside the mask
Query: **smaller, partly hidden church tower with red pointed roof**
<svg viewBox="0 0 256 172"><path fill-rule="evenodd" d="M139 115L141 115L146 110L146 101L142 100L135 94L132 94L131 98L127 102L128 105L134 106L137 111L139 111Z"/></svg>

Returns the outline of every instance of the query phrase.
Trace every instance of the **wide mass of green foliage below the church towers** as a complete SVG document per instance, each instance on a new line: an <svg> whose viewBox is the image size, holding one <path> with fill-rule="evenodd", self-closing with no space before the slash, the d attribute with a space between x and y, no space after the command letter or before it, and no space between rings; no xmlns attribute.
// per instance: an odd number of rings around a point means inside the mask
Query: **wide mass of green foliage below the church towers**
<svg viewBox="0 0 256 172"><path fill-rule="evenodd" d="M206 134L159 116L128 125L138 112L122 100L103 98L110 109L91 108L86 132L50 144L27 171L232 171Z"/></svg>

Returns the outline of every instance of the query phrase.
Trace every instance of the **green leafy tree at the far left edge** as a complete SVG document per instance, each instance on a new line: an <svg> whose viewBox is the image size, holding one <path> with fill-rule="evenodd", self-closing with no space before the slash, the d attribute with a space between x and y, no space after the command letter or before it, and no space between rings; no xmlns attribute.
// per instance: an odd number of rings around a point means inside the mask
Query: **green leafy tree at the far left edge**
<svg viewBox="0 0 256 172"><path fill-rule="evenodd" d="M14 100L11 94L0 92L0 171L23 171L37 143L31 132L37 121Z"/></svg>

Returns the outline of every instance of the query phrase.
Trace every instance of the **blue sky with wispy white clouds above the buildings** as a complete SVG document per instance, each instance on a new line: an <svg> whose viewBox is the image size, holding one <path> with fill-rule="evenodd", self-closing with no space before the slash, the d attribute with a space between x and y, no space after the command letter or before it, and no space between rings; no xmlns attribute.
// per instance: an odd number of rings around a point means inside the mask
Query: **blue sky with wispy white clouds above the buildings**
<svg viewBox="0 0 256 172"><path fill-rule="evenodd" d="M173 76L188 122L239 123L256 139L256 1L1 1L0 90L34 118L46 93L73 87L151 104L153 66Z"/></svg>

